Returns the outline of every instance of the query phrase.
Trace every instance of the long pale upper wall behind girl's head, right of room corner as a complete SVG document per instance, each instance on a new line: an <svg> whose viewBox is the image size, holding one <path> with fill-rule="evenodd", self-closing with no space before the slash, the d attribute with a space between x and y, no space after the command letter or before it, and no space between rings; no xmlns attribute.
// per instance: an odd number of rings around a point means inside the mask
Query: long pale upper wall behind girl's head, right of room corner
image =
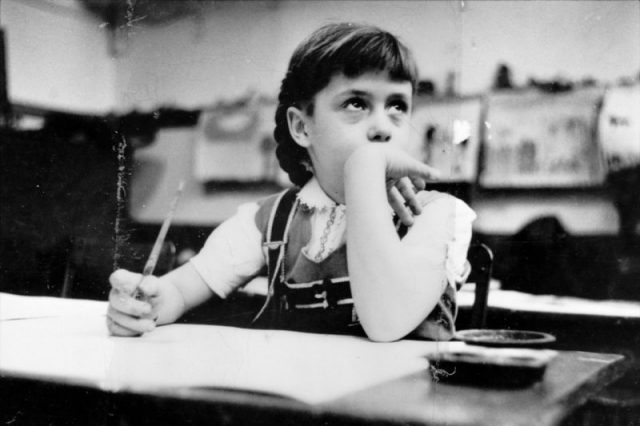
<svg viewBox="0 0 640 426"><path fill-rule="evenodd" d="M635 1L211 2L171 25L135 23L118 57L123 109L209 105L257 89L276 94L296 44L322 23L370 22L414 50L439 90L487 91L499 63L530 77L612 82L640 72Z"/></svg>

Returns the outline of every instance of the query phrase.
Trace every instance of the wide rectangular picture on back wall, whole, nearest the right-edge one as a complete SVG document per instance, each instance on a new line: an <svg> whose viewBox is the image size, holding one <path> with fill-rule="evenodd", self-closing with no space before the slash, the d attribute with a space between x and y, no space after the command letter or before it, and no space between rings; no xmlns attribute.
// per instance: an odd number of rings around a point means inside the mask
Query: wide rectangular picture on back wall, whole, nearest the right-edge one
<svg viewBox="0 0 640 426"><path fill-rule="evenodd" d="M602 89L496 93L488 98L485 187L584 187L605 170L595 137Z"/></svg>

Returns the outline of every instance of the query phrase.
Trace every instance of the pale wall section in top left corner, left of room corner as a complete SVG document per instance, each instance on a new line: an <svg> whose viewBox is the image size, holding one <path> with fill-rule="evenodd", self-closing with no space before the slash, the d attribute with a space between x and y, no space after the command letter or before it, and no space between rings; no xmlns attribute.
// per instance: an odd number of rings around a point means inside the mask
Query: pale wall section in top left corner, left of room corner
<svg viewBox="0 0 640 426"><path fill-rule="evenodd" d="M74 1L3 0L10 100L79 113L112 110L115 63L100 24Z"/></svg>

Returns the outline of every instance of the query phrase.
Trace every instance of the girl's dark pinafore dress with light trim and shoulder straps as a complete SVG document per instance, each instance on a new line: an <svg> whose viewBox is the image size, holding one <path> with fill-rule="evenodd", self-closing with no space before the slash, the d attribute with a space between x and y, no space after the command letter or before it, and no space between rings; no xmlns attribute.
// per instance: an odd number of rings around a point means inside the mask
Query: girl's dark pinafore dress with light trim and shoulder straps
<svg viewBox="0 0 640 426"><path fill-rule="evenodd" d="M311 235L313 210L300 205L297 190L268 198L256 214L262 231L269 290L254 326L317 333L365 335L351 297L346 245L314 262L302 248ZM398 225L398 234L406 233ZM448 339L454 332L455 290L447 287L418 337Z"/></svg>

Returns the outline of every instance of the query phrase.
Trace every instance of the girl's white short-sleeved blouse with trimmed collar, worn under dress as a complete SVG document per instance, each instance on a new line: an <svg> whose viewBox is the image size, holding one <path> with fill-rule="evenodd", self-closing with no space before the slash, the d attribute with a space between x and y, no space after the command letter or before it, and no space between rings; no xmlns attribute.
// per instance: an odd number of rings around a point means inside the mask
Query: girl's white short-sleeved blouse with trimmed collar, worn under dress
<svg viewBox="0 0 640 426"><path fill-rule="evenodd" d="M329 198L315 178L298 192L297 197L301 205L312 211L311 238L302 253L309 260L319 262L345 244L346 206ZM251 280L265 265L262 234L255 223L258 208L257 202L241 205L234 216L211 233L200 252L190 260L207 285L222 298ZM421 217L414 218L413 227L424 225ZM446 257L447 279L451 284L464 281L469 272L466 257L471 223L475 218L466 203L455 199L455 229L447 244ZM411 245L420 255L425 253L427 256L428 246L428 239Z"/></svg>

